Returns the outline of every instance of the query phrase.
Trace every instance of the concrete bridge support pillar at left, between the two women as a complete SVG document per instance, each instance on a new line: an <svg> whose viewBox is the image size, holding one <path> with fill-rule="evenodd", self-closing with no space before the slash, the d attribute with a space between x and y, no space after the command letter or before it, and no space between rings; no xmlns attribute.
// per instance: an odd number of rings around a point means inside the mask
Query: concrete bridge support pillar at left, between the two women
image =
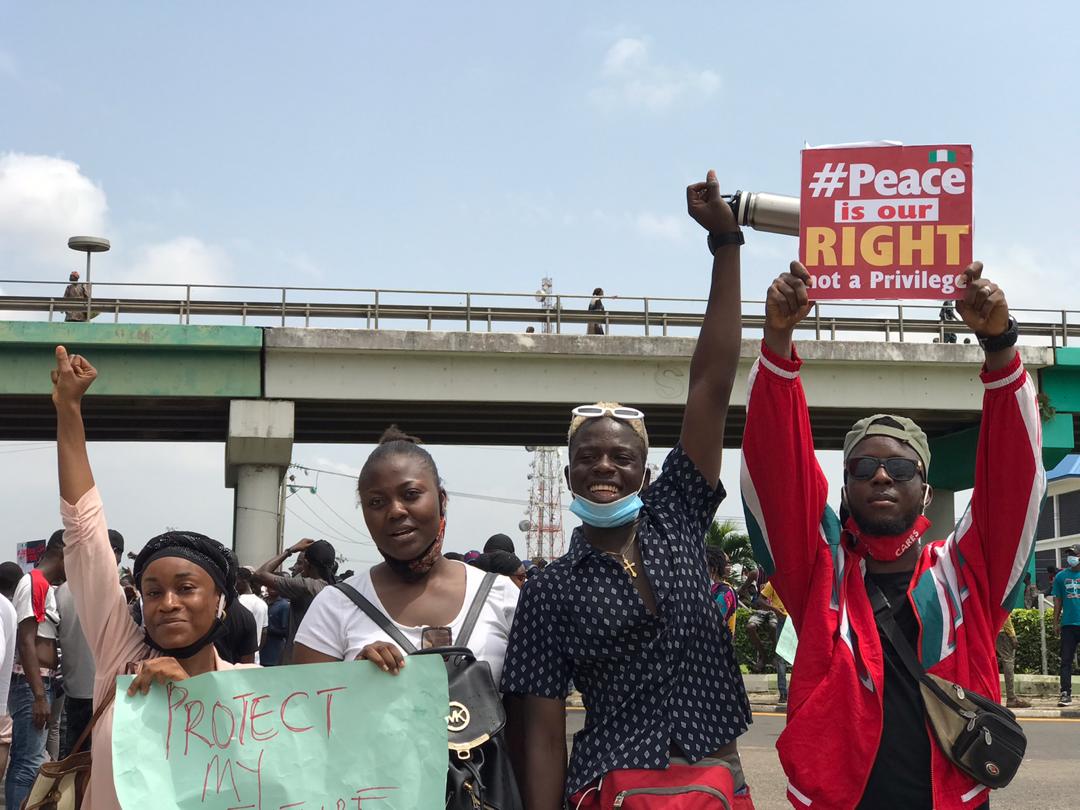
<svg viewBox="0 0 1080 810"><path fill-rule="evenodd" d="M294 404L233 400L225 445L225 485L235 489L232 548L242 565L281 549L281 482L293 458Z"/></svg>

